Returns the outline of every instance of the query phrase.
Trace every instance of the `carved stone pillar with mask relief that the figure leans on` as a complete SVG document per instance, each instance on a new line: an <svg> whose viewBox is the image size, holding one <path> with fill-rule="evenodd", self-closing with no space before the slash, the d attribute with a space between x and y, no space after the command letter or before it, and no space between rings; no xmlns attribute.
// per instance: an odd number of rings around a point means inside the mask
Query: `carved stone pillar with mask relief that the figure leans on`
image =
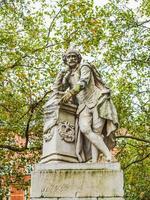
<svg viewBox="0 0 150 200"><path fill-rule="evenodd" d="M75 150L77 106L60 104L61 93L54 93L44 106L43 151L40 163L78 162Z"/></svg>

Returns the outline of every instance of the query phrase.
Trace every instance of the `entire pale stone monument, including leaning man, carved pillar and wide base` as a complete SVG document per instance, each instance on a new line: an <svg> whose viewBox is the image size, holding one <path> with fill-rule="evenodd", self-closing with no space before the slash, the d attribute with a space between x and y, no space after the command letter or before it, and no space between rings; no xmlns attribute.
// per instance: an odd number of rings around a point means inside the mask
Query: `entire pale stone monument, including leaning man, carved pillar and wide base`
<svg viewBox="0 0 150 200"><path fill-rule="evenodd" d="M120 164L109 163L116 109L96 68L81 59L75 49L64 54L66 67L44 105L43 151L31 175L32 200L124 200ZM97 163L101 155L106 162Z"/></svg>

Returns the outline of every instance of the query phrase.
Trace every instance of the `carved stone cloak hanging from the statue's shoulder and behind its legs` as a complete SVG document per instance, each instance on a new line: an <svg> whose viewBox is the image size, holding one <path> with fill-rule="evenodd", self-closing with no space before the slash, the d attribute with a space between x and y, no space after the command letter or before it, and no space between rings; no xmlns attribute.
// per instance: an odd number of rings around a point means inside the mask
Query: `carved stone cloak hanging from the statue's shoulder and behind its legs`
<svg viewBox="0 0 150 200"><path fill-rule="evenodd" d="M105 119L105 126L102 131L104 142L109 148L113 149L115 146L115 135L114 131L118 127L118 117L116 108L110 98L109 88L101 80L99 72L96 70L95 66L87 63L84 64L88 66L91 70L91 76L93 76L94 84L99 92L97 98L94 98L96 101L95 107L98 111L100 118ZM82 66L81 66L82 67ZM103 93L102 93L103 91ZM106 93L105 93L106 92ZM94 95L94 94L93 94ZM80 115L83 108L80 108L79 105L77 110L77 116ZM79 159L79 162L86 162L91 158L91 144L90 141L81 133L78 125L78 118L76 119L75 133L76 133L76 154ZM96 133L95 133L96 134Z"/></svg>

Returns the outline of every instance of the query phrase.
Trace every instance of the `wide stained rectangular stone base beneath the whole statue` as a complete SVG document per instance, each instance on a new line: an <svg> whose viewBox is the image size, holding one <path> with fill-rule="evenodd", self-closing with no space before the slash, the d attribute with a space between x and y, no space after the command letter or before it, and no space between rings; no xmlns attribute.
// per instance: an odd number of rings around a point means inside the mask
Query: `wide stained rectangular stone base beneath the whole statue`
<svg viewBox="0 0 150 200"><path fill-rule="evenodd" d="M119 163L37 164L31 175L32 200L123 200Z"/></svg>

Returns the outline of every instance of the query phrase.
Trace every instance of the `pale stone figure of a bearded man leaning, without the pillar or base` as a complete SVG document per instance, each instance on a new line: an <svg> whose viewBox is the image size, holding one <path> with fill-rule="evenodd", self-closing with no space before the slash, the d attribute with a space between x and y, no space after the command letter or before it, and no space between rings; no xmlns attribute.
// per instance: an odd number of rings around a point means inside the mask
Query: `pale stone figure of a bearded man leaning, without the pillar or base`
<svg viewBox="0 0 150 200"><path fill-rule="evenodd" d="M110 150L114 147L114 131L118 126L115 106L110 90L103 83L96 68L81 64L82 57L75 50L63 55L66 69L56 77L53 90L65 92L61 104L71 102L77 105L75 122L75 151L78 162L98 162L103 153L111 161Z"/></svg>

